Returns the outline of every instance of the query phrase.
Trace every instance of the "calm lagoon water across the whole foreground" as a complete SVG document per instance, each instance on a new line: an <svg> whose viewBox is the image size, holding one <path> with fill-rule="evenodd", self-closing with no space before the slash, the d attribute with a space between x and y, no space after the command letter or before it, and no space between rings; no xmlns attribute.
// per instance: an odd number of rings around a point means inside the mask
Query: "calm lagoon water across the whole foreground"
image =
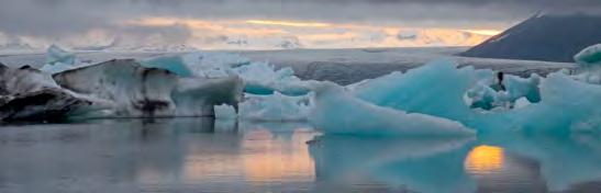
<svg viewBox="0 0 601 193"><path fill-rule="evenodd" d="M599 192L598 136L322 136L202 118L4 126L0 192Z"/></svg>

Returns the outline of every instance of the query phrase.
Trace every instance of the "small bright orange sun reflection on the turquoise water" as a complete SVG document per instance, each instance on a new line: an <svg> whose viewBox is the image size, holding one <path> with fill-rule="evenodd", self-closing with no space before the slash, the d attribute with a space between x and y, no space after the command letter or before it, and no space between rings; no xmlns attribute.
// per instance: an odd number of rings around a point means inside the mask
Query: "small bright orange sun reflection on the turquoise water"
<svg viewBox="0 0 601 193"><path fill-rule="evenodd" d="M503 148L496 146L478 146L466 157L464 167L469 173L487 174L500 171L503 168Z"/></svg>

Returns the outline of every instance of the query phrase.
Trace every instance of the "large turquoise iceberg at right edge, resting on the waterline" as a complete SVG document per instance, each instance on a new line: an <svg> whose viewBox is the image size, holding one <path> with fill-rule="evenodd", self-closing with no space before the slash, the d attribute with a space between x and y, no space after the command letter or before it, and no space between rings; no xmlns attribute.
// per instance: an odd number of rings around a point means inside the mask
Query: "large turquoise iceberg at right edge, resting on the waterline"
<svg viewBox="0 0 601 193"><path fill-rule="evenodd" d="M596 104L601 87L576 81L563 73L552 73L541 84L539 103L501 114L505 121L533 132L574 132L582 122L601 117ZM502 124L500 120L491 123ZM599 125L598 125L599 126ZM598 129L598 127L596 128Z"/></svg>

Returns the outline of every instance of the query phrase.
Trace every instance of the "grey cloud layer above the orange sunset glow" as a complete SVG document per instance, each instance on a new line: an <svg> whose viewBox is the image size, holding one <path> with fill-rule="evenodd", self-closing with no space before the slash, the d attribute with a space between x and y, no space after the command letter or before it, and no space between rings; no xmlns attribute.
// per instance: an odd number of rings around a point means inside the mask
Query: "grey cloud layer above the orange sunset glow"
<svg viewBox="0 0 601 193"><path fill-rule="evenodd" d="M537 11L601 12L599 0L0 0L0 32L46 38L81 34L91 29L120 33L121 21L143 16L461 27L507 26ZM183 32L179 27L175 31ZM123 33L145 32L125 29Z"/></svg>

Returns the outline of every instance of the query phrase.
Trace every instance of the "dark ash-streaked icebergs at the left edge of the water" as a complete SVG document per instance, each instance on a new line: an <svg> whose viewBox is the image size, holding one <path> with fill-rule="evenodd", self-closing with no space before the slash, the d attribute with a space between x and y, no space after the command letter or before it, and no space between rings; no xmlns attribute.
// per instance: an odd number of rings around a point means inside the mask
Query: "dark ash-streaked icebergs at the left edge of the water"
<svg viewBox="0 0 601 193"><path fill-rule="evenodd" d="M2 68L3 121L64 117L213 116L213 106L237 107L237 77L183 78L131 59L110 60L51 77L25 68ZM19 105L16 104L19 100ZM48 117L45 114L56 114ZM55 118L56 117L56 118Z"/></svg>

